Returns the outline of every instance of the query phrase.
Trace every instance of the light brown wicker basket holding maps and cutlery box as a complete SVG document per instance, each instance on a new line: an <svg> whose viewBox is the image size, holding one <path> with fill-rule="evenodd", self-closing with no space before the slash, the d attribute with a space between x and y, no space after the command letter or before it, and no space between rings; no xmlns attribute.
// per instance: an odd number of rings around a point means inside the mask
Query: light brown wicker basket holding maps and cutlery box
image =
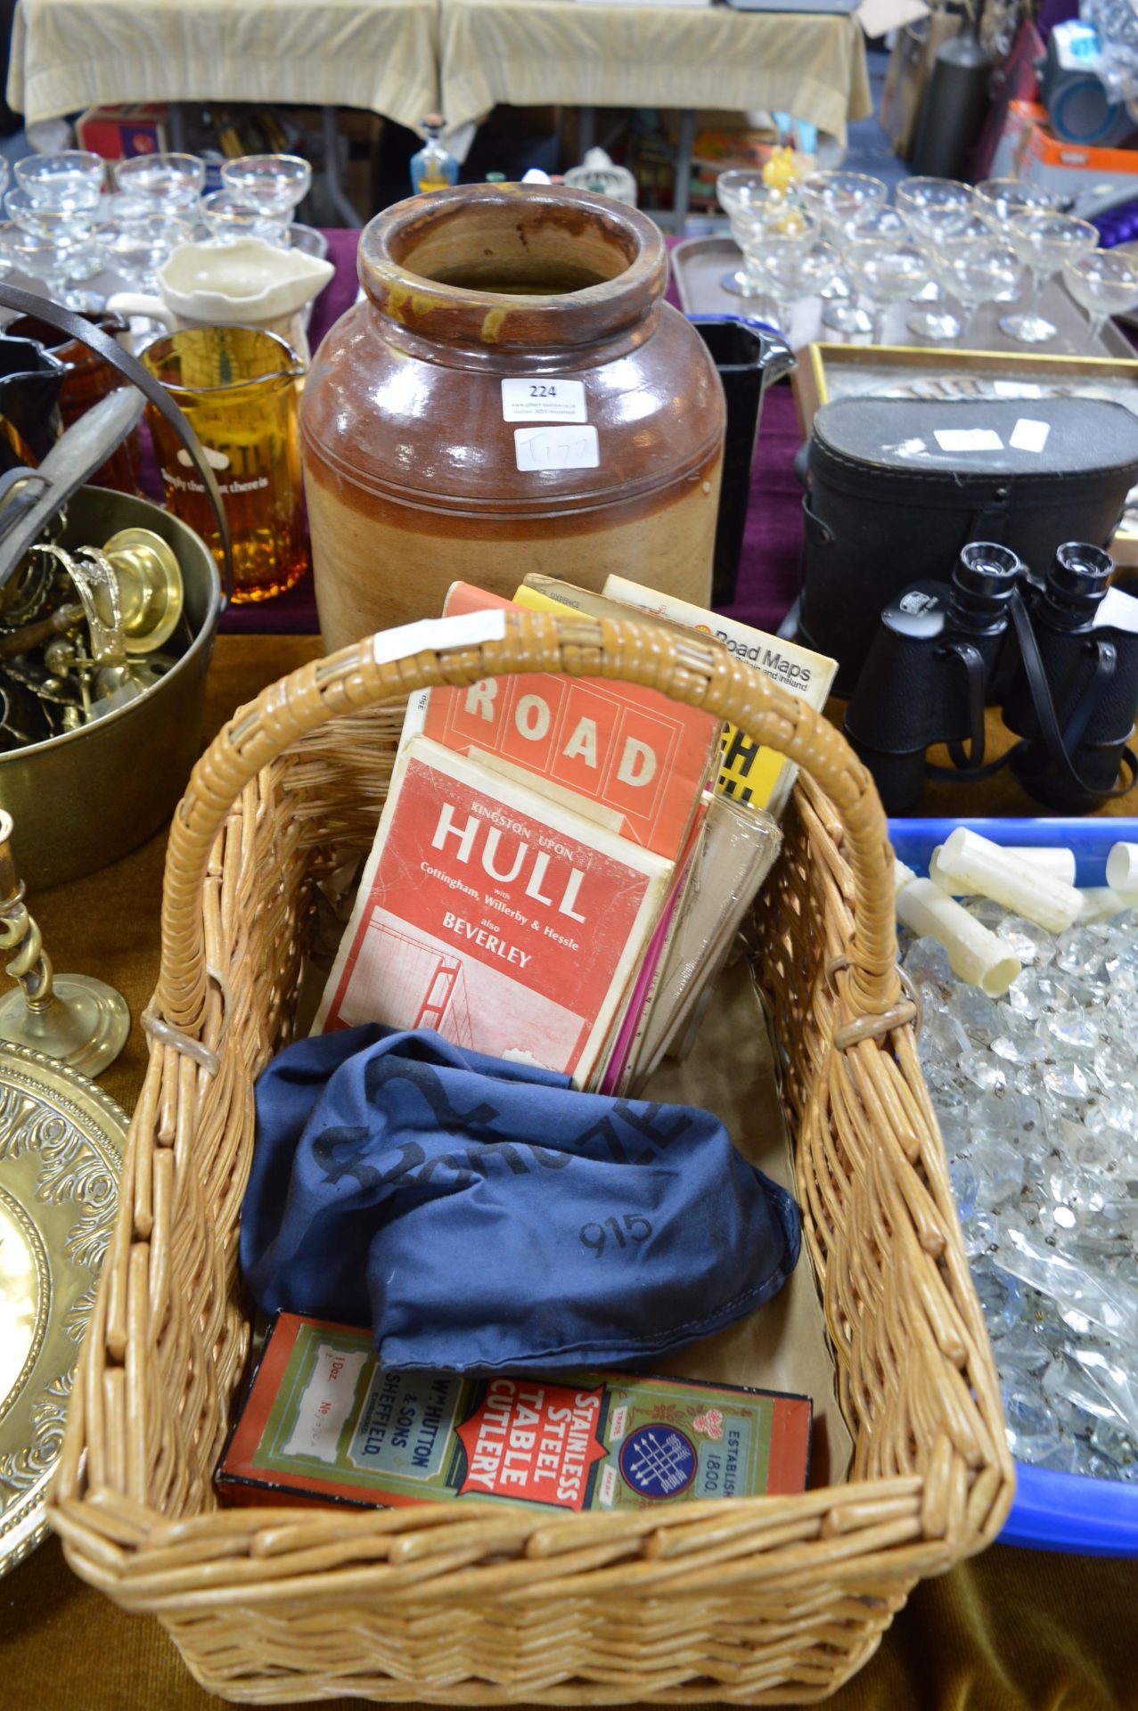
<svg viewBox="0 0 1138 1711"><path fill-rule="evenodd" d="M154 1612L229 1699L821 1699L921 1576L996 1536L1013 1494L869 775L825 720L695 635L510 614L503 640L392 662L397 638L265 690L175 818L151 1064L53 1525L79 1574ZM407 691L522 669L652 684L803 767L763 905L763 982L851 1478L666 1516L219 1511L210 1478L248 1350L236 1251L253 1078L289 1033L315 881L371 840Z"/></svg>

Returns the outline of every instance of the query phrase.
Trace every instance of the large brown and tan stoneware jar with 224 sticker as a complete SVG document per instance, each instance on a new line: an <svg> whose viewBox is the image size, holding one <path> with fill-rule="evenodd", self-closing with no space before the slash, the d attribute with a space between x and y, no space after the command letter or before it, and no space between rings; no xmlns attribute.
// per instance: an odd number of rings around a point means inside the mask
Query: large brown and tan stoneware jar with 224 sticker
<svg viewBox="0 0 1138 1711"><path fill-rule="evenodd" d="M438 616L455 580L618 571L708 602L722 387L664 303L652 221L584 190L436 190L371 221L359 279L301 409L329 648Z"/></svg>

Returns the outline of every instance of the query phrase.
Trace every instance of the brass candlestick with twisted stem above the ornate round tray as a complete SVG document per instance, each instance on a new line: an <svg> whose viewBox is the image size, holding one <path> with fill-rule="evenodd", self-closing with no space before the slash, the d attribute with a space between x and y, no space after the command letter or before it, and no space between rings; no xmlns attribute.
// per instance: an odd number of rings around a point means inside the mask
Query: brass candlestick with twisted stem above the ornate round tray
<svg viewBox="0 0 1138 1711"><path fill-rule="evenodd" d="M7 972L19 980L0 998L0 1039L29 1045L82 1071L101 1075L130 1033L127 999L87 974L55 974L39 927L24 903L12 857L12 816L0 809L0 950L15 955Z"/></svg>

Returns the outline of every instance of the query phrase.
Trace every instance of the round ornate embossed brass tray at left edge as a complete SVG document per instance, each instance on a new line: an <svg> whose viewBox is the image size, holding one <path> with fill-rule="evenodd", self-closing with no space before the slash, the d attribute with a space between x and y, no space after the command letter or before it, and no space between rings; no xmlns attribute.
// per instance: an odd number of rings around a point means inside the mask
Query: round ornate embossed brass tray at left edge
<svg viewBox="0 0 1138 1711"><path fill-rule="evenodd" d="M0 1042L0 1574L46 1531L125 1136L86 1076Z"/></svg>

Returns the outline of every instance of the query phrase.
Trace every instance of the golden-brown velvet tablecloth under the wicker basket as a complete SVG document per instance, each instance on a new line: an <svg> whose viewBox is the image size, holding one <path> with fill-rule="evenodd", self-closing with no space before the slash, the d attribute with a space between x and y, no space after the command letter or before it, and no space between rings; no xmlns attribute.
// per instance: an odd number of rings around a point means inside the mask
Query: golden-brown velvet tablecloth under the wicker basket
<svg viewBox="0 0 1138 1711"><path fill-rule="evenodd" d="M317 636L221 636L207 729L318 652ZM939 799L931 792L924 808L945 811L945 790ZM1013 784L996 779L975 792L970 811L1030 808ZM159 835L113 867L33 900L58 965L113 980L130 1003L130 1044L103 1076L125 1105L145 1063L137 1016L157 970L163 854ZM922 1583L876 1658L828 1704L833 1711L1138 1711L1136 1591L1133 1562L996 1545ZM125 1615L75 1579L55 1540L0 1581L0 1706L205 1711L216 1704L157 1622ZM342 1711L356 1704L335 1701Z"/></svg>

